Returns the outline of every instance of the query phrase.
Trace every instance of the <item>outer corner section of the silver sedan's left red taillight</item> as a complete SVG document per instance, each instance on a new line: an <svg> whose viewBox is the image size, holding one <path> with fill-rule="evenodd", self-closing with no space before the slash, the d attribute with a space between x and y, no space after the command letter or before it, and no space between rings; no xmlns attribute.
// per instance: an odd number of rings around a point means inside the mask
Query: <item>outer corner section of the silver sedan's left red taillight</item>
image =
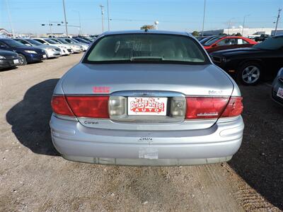
<svg viewBox="0 0 283 212"><path fill-rule="evenodd" d="M53 95L51 100L52 110L56 114L74 117L73 112L64 97L64 95Z"/></svg>

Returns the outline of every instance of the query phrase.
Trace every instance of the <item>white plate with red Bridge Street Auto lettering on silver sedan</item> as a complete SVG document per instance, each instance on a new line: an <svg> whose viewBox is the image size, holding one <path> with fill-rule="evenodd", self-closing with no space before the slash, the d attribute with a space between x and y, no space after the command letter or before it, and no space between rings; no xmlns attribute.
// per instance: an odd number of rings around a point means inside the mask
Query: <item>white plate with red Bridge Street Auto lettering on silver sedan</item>
<svg viewBox="0 0 283 212"><path fill-rule="evenodd" d="M129 115L157 115L166 116L167 98L128 98Z"/></svg>

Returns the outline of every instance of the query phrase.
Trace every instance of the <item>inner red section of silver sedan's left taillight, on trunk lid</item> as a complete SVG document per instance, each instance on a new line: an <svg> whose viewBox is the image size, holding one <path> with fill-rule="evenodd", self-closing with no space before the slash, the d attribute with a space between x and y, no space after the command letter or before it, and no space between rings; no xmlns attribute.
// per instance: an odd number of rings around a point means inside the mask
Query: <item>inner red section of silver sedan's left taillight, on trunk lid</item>
<svg viewBox="0 0 283 212"><path fill-rule="evenodd" d="M67 96L76 117L109 118L108 96Z"/></svg>

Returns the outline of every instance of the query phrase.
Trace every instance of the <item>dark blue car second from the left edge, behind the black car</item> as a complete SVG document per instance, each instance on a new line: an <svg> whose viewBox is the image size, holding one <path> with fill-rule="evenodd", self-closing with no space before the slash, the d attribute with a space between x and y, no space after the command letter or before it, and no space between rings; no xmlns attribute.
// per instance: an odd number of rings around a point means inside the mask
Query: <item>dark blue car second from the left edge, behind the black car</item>
<svg viewBox="0 0 283 212"><path fill-rule="evenodd" d="M18 53L21 66L27 63L33 63L36 61L42 61L42 59L47 59L44 50L35 47L27 47L21 42L8 38L0 39L0 49Z"/></svg>

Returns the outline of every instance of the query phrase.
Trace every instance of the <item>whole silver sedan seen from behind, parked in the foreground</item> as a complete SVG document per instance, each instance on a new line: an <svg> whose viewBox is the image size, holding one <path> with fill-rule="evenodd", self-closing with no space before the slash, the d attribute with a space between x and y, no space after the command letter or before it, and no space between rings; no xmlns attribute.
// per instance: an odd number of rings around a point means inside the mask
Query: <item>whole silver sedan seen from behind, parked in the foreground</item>
<svg viewBox="0 0 283 212"><path fill-rule="evenodd" d="M52 141L68 160L195 165L241 146L241 93L187 33L100 35L57 83Z"/></svg>

